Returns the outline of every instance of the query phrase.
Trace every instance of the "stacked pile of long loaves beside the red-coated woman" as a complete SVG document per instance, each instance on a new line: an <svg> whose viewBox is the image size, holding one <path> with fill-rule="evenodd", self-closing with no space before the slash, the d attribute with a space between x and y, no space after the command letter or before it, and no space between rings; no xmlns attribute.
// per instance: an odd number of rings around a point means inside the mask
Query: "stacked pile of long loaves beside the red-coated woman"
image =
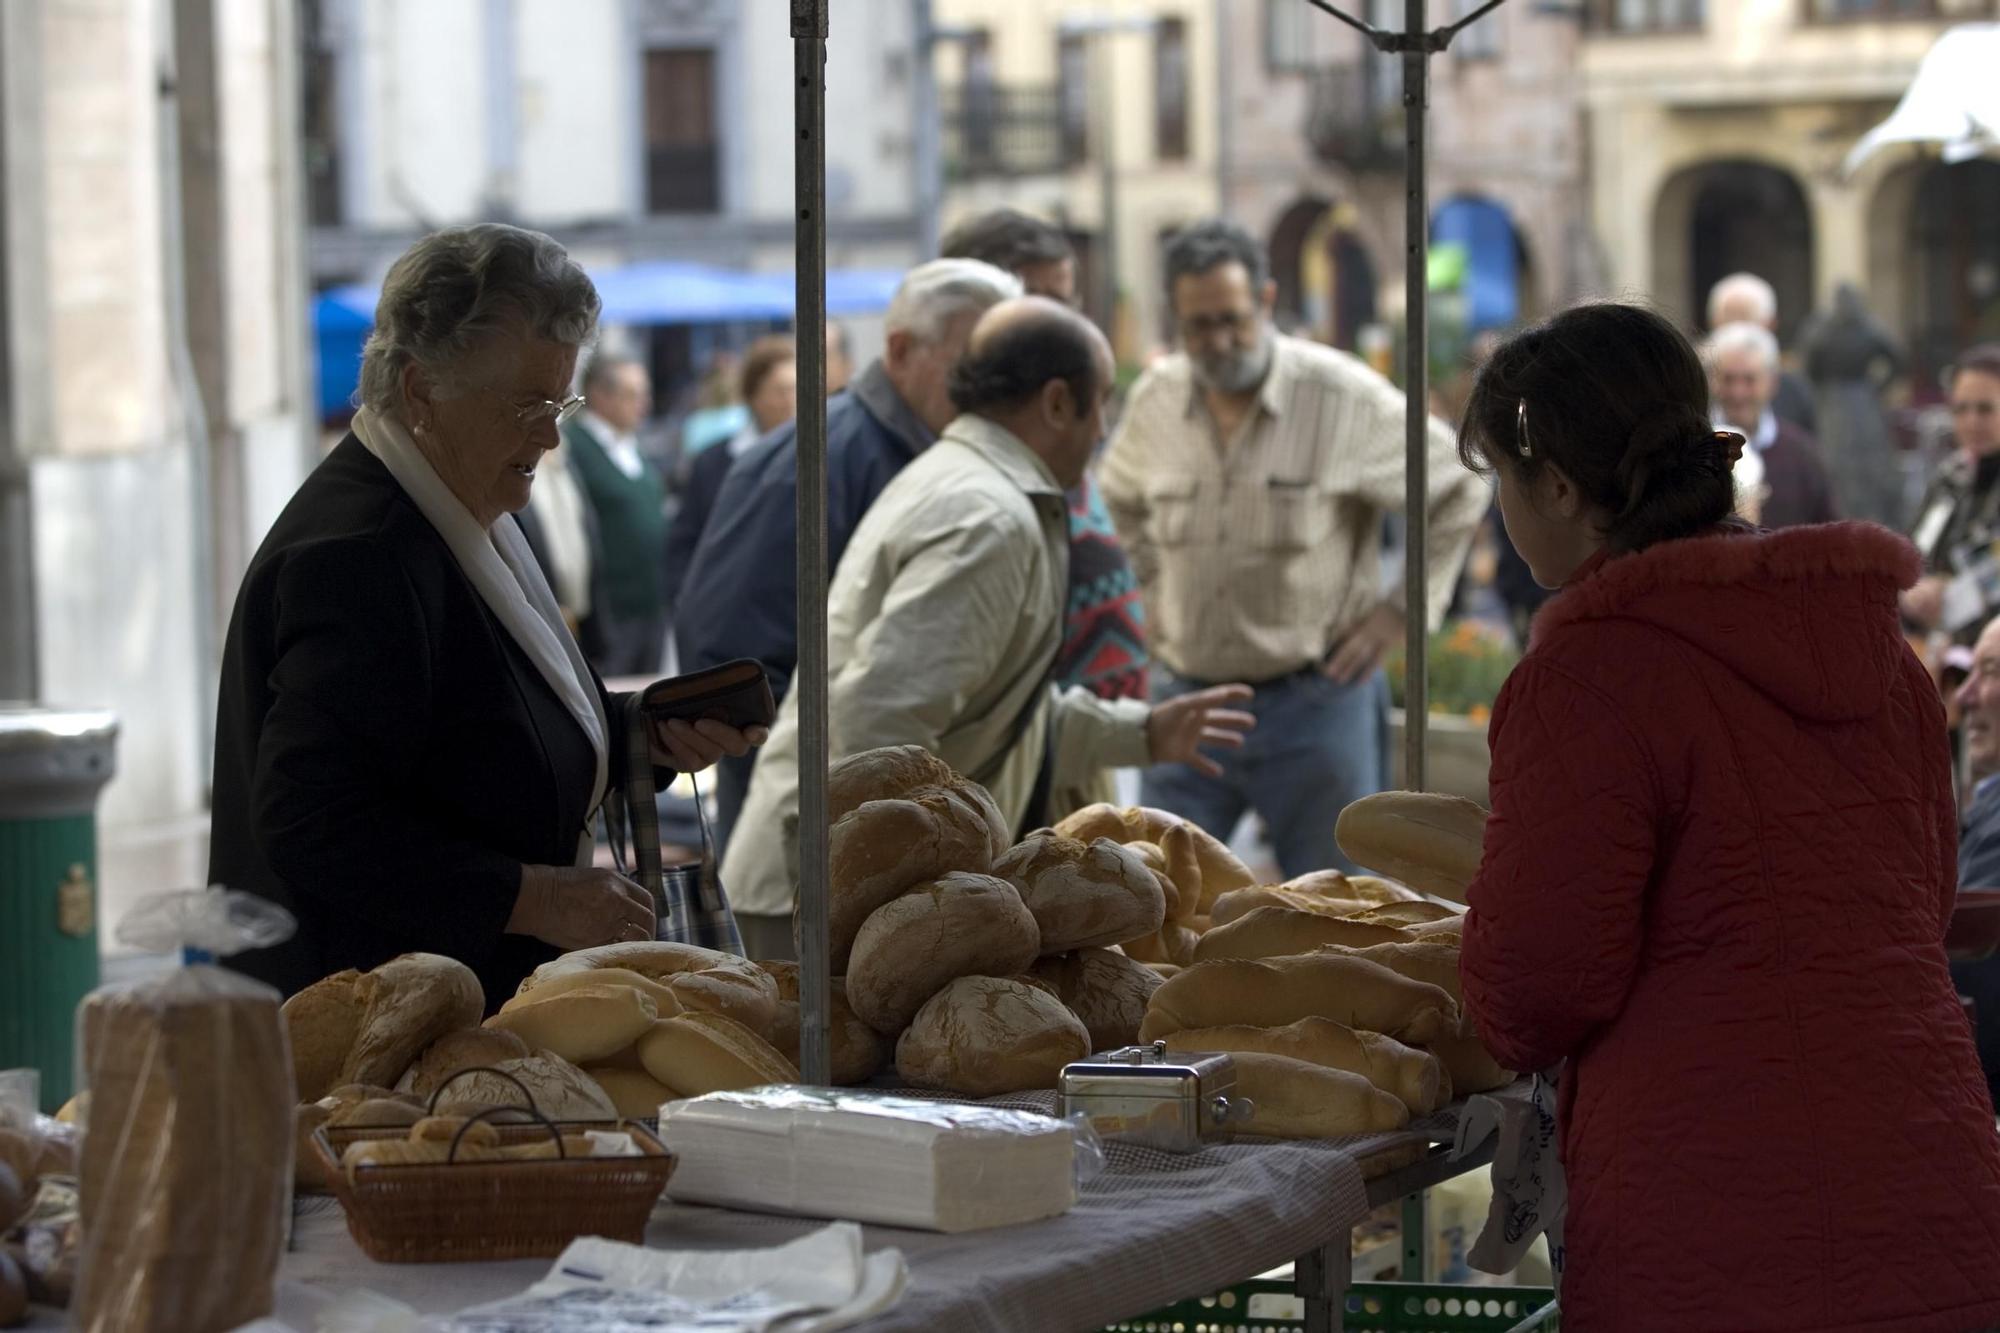
<svg viewBox="0 0 2000 1333"><path fill-rule="evenodd" d="M1462 901L1484 817L1454 797L1384 793L1342 813L1340 847L1362 865L1394 857L1406 879ZM1226 893L1194 965L1154 993L1140 1039L1234 1055L1236 1089L1256 1103L1246 1133L1400 1129L1514 1079L1462 1011L1460 925L1458 907L1368 875Z"/></svg>

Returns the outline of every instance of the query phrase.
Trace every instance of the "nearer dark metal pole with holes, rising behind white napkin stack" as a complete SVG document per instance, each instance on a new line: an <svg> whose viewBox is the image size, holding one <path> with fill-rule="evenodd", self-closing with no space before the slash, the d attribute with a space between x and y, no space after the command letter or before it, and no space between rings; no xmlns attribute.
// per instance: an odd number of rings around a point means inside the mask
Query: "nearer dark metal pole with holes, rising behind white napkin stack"
<svg viewBox="0 0 2000 1333"><path fill-rule="evenodd" d="M832 1083L826 1015L826 2L792 0L798 208L798 1063Z"/></svg>

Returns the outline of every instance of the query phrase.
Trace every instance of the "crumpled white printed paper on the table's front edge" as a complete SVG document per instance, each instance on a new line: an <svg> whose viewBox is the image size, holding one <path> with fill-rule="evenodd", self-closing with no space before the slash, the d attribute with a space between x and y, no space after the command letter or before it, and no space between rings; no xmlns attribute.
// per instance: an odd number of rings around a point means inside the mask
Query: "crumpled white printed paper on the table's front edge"
<svg viewBox="0 0 2000 1333"><path fill-rule="evenodd" d="M894 1305L902 1251L862 1251L834 1223L776 1249L660 1251L586 1237L518 1297L456 1315L452 1333L832 1333Z"/></svg>

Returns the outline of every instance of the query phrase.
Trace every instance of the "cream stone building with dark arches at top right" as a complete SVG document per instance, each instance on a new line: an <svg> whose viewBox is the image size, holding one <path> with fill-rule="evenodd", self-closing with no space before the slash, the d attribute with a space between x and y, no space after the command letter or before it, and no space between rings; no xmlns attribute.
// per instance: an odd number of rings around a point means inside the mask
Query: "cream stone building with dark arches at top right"
<svg viewBox="0 0 2000 1333"><path fill-rule="evenodd" d="M1840 282L1898 332L1918 392L2000 334L2000 162L1842 160L1954 22L1992 0L1592 0L1582 50L1592 202L1620 288L1690 328L1734 270L1792 338Z"/></svg>

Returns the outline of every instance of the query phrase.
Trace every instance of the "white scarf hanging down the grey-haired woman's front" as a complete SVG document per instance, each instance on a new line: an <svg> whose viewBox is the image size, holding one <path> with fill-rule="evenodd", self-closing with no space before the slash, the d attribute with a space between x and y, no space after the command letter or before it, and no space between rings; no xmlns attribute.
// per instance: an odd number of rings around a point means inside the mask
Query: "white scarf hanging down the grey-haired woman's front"
<svg viewBox="0 0 2000 1333"><path fill-rule="evenodd" d="M528 654L534 669L542 673L548 689L556 693L576 725L584 729L598 761L588 807L594 813L604 803L604 789L610 785L606 759L610 725L604 719L604 699L590 677L582 648L576 646L576 638L562 622L562 608L556 606L556 594L542 578L542 568L534 562L534 552L528 550L528 538L520 534L520 524L514 522L512 514L506 514L490 530L482 528L394 416L362 408L354 414L354 434L430 518L430 526L438 530L438 536L450 546L452 558L458 560L460 572L508 636ZM590 857L592 839L586 831L578 841L576 865L590 865Z"/></svg>

